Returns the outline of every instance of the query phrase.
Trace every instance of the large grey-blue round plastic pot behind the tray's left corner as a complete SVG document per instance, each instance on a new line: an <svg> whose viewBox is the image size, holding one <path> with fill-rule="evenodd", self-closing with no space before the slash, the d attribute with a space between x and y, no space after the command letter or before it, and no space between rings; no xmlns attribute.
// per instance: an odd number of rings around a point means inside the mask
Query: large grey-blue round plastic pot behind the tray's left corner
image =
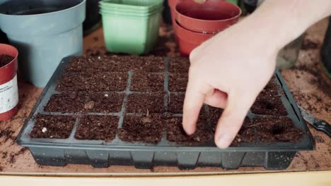
<svg viewBox="0 0 331 186"><path fill-rule="evenodd" d="M0 27L20 52L19 69L45 87L62 58L83 54L86 0L8 0L0 4Z"/></svg>

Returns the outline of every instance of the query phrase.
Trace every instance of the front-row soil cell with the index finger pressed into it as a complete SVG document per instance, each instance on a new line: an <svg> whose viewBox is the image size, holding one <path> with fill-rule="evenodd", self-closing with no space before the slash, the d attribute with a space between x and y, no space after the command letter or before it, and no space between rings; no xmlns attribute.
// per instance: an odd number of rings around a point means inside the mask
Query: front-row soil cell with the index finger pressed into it
<svg viewBox="0 0 331 186"><path fill-rule="evenodd" d="M167 122L167 140L179 144L199 144L211 140L213 132L207 119L199 118L194 135L187 135L182 128L182 118L169 118Z"/></svg>

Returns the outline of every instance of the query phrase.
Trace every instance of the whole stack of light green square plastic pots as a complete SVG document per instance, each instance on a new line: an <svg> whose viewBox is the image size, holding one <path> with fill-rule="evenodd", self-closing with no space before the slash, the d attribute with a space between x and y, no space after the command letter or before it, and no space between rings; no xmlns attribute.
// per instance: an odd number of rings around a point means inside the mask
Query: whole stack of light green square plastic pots
<svg viewBox="0 0 331 186"><path fill-rule="evenodd" d="M158 42L163 0L103 0L105 46L108 51L146 54Z"/></svg>

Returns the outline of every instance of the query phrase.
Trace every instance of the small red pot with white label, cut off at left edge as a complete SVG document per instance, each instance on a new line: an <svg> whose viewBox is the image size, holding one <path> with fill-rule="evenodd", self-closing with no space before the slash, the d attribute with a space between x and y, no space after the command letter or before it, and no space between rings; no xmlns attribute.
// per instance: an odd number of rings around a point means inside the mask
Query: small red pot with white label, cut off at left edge
<svg viewBox="0 0 331 186"><path fill-rule="evenodd" d="M11 119L18 110L17 57L18 51L8 44L0 44L0 55L13 57L13 61L0 67L0 120Z"/></svg>

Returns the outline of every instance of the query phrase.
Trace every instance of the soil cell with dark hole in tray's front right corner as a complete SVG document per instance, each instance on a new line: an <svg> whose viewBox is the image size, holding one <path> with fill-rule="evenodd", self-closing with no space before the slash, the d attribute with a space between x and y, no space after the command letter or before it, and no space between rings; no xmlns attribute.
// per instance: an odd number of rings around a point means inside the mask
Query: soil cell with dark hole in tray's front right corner
<svg viewBox="0 0 331 186"><path fill-rule="evenodd" d="M298 142L303 131L286 117L256 117L251 125L244 125L242 135L255 136L260 142Z"/></svg>

